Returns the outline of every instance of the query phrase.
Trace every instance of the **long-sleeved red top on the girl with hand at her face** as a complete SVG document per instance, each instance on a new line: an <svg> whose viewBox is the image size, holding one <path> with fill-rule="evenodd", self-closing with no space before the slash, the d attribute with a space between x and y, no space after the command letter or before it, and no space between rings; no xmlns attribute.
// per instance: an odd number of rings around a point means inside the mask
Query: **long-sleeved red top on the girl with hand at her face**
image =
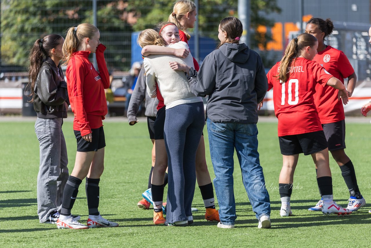
<svg viewBox="0 0 371 248"><path fill-rule="evenodd" d="M95 52L100 73L89 61L88 51L74 52L67 64L68 97L75 115L73 130L80 131L81 136L103 126L102 120L107 114L104 89L109 88L109 75L103 54L105 49L99 44Z"/></svg>

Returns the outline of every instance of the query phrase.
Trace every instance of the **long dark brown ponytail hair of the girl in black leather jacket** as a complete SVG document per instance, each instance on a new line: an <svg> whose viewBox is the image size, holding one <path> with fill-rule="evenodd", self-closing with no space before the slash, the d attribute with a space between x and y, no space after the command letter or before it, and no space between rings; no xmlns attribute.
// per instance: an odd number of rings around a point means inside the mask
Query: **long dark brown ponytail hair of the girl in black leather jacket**
<svg viewBox="0 0 371 248"><path fill-rule="evenodd" d="M57 46L60 44L60 39L63 39L63 37L60 35L46 35L42 39L37 39L31 48L29 55L30 65L28 67L28 84L26 86L26 88L30 91L29 96L32 96L30 102L33 102L33 89L35 87L37 74L39 74L39 70L43 64L43 59L50 57L50 51L53 48L57 48Z"/></svg>

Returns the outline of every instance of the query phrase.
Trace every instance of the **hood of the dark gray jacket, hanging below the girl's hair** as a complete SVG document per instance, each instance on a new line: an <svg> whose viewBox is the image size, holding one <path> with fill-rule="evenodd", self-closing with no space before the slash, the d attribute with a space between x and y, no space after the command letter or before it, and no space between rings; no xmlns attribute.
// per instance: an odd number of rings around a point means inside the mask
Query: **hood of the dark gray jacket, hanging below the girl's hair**
<svg viewBox="0 0 371 248"><path fill-rule="evenodd" d="M219 50L227 57L227 59L235 63L246 63L250 57L250 49L244 43L224 43L220 46Z"/></svg>

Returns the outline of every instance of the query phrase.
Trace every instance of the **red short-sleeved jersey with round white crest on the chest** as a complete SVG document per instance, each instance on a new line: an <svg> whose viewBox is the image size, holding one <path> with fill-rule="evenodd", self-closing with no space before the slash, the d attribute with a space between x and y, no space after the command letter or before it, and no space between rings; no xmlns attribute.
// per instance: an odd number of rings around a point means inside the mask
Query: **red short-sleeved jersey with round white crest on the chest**
<svg viewBox="0 0 371 248"><path fill-rule="evenodd" d="M313 61L321 64L329 74L339 79L344 84L344 78L354 73L352 65L349 63L344 52L331 46L327 46L319 52ZM345 119L344 106L342 101L338 101L338 90L331 86L316 86L314 94L319 119L322 124L338 122Z"/></svg>

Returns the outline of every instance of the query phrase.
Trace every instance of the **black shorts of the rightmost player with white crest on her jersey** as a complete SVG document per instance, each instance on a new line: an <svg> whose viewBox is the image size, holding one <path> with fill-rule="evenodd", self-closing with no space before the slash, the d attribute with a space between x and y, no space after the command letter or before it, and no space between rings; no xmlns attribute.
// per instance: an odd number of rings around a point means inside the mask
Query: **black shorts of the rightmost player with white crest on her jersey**
<svg viewBox="0 0 371 248"><path fill-rule="evenodd" d="M345 147L345 120L323 124L322 127L325 132L329 151L346 148Z"/></svg>

